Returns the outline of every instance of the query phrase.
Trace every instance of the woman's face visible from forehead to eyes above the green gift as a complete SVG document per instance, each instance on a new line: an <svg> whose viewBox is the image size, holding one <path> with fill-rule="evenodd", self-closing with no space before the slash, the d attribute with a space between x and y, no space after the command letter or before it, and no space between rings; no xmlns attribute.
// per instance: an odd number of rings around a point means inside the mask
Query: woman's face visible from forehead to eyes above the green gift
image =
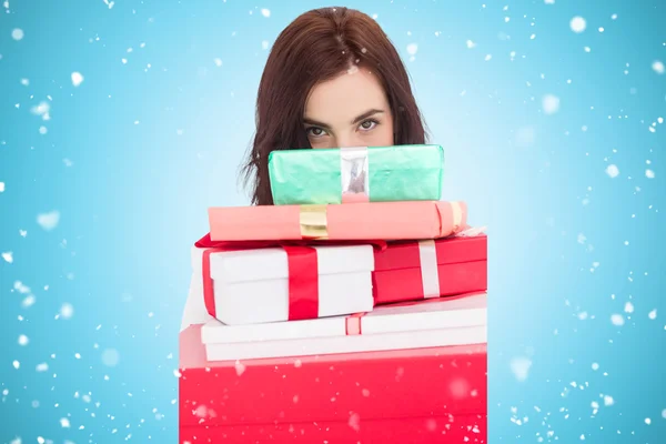
<svg viewBox="0 0 666 444"><path fill-rule="evenodd" d="M312 89L304 131L312 148L393 145L393 114L379 79L353 68Z"/></svg>

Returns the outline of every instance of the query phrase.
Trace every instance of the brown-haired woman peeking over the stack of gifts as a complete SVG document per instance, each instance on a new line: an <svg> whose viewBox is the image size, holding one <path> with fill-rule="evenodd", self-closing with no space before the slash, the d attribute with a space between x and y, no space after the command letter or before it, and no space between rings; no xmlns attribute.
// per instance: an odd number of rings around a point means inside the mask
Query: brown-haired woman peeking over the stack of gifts
<svg viewBox="0 0 666 444"><path fill-rule="evenodd" d="M275 40L243 165L252 203L273 204L269 153L302 148L423 144L426 129L397 51L369 16L322 8Z"/></svg>

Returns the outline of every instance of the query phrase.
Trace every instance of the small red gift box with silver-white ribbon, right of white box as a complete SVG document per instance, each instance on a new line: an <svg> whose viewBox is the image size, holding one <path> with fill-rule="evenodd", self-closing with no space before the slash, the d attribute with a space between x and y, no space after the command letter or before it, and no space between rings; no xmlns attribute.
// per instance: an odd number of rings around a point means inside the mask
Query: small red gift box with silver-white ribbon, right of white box
<svg viewBox="0 0 666 444"><path fill-rule="evenodd" d="M487 235L390 243L375 250L375 305L487 290Z"/></svg>

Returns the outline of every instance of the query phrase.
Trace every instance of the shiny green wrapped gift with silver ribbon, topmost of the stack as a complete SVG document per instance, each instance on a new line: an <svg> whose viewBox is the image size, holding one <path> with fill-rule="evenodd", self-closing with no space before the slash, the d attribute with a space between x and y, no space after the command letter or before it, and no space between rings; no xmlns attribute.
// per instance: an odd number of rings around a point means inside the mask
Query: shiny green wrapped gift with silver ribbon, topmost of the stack
<svg viewBox="0 0 666 444"><path fill-rule="evenodd" d="M438 201L440 145L280 150L269 155L275 205Z"/></svg>

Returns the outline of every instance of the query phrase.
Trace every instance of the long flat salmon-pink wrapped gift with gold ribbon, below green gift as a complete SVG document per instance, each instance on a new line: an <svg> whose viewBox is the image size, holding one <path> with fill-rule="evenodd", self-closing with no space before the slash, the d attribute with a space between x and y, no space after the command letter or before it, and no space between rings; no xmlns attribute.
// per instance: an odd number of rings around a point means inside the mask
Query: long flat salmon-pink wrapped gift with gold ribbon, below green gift
<svg viewBox="0 0 666 444"><path fill-rule="evenodd" d="M209 209L212 241L437 239L462 231L466 220L458 201Z"/></svg>

